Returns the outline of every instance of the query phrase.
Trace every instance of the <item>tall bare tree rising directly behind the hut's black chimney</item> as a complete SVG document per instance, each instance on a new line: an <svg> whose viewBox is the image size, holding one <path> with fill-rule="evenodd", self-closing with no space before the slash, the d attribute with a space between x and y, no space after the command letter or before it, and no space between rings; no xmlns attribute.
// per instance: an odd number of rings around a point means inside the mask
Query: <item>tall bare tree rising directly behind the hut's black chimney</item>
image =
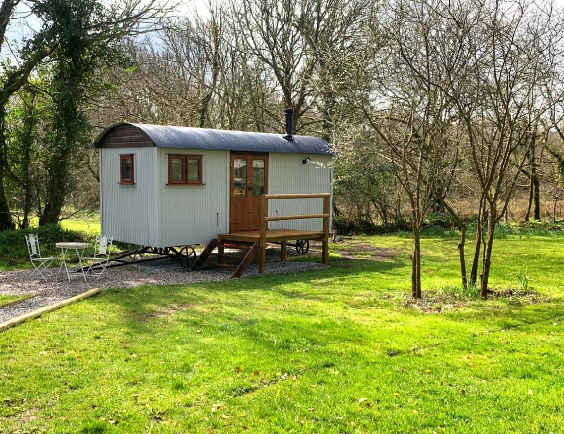
<svg viewBox="0 0 564 434"><path fill-rule="evenodd" d="M346 45L368 12L364 0L231 0L231 23L240 51L264 65L284 107L294 108L294 133L311 134L312 83L328 47ZM268 113L270 129L281 128L281 107ZM310 116L311 115L311 116Z"/></svg>

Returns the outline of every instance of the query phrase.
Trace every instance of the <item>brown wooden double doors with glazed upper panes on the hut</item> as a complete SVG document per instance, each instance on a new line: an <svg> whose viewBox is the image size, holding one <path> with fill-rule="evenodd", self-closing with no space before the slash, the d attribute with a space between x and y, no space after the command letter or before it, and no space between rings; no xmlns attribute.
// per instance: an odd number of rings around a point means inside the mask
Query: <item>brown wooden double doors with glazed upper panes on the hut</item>
<svg viewBox="0 0 564 434"><path fill-rule="evenodd" d="M231 154L231 227L261 229L261 195L268 193L268 154Z"/></svg>

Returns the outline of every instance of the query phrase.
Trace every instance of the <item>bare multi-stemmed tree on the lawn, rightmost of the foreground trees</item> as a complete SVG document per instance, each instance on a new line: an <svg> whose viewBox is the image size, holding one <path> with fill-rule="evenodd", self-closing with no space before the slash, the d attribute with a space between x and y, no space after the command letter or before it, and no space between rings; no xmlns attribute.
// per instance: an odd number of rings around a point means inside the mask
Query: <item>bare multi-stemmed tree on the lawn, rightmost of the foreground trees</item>
<svg viewBox="0 0 564 434"><path fill-rule="evenodd" d="M481 296L486 298L495 225L531 155L535 126L562 99L557 65L563 33L552 5L495 0L477 3L473 16L479 20L465 32L465 49L471 55L452 95L482 196L473 270L486 236L481 273ZM546 87L560 89L552 95L556 98L543 96Z"/></svg>

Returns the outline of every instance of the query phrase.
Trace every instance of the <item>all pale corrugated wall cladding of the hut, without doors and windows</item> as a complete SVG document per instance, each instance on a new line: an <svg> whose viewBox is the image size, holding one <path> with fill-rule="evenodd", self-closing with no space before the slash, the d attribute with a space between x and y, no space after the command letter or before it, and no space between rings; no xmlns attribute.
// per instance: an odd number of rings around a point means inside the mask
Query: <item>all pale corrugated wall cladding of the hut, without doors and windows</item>
<svg viewBox="0 0 564 434"><path fill-rule="evenodd" d="M168 154L202 155L202 186L168 186ZM134 154L135 185L119 185L120 154ZM331 156L271 153L268 192L331 192ZM114 239L144 246L199 244L229 231L230 152L166 148L100 150L102 231ZM316 214L322 199L269 201L270 216ZM271 222L275 229L321 230L321 219Z"/></svg>

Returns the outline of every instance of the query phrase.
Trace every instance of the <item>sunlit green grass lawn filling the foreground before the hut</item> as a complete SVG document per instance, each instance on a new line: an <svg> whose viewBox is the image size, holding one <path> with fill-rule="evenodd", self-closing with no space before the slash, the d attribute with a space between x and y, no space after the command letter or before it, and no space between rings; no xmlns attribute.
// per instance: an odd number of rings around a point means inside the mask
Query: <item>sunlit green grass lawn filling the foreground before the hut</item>
<svg viewBox="0 0 564 434"><path fill-rule="evenodd" d="M536 303L441 300L456 239L435 238L413 306L397 236L324 270L100 293L0 333L0 432L562 432L563 242L496 241L492 286L528 267Z"/></svg>

